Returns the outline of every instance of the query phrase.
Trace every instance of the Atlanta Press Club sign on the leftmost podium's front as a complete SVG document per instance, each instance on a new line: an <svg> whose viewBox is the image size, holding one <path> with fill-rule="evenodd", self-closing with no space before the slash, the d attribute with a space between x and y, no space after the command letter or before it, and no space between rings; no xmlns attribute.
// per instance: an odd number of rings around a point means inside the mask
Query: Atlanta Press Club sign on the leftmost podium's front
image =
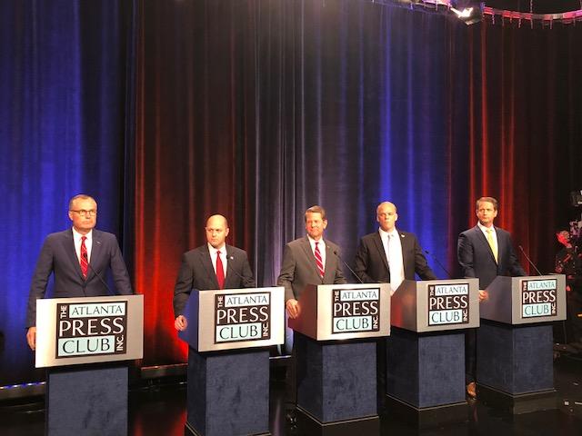
<svg viewBox="0 0 582 436"><path fill-rule="evenodd" d="M124 354L127 302L56 304L56 358Z"/></svg>

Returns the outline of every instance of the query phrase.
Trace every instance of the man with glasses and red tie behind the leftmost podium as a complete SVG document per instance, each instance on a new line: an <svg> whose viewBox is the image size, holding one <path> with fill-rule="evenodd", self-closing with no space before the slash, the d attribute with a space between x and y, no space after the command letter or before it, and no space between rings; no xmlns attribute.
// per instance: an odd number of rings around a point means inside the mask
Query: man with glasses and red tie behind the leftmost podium
<svg viewBox="0 0 582 436"><path fill-rule="evenodd" d="M115 235L95 229L95 199L75 195L69 202L69 218L73 227L49 234L36 263L26 315L26 341L32 350L36 347L36 300L45 296L51 274L55 275L55 298L107 295L110 292L103 275L108 269L117 293L133 293Z"/></svg>

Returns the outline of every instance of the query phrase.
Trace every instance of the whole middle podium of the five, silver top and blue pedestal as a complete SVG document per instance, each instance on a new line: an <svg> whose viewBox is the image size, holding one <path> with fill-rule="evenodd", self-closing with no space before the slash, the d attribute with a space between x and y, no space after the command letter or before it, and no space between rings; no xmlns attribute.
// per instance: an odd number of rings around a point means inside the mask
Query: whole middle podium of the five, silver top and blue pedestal
<svg viewBox="0 0 582 436"><path fill-rule="evenodd" d="M307 285L299 308L289 327L295 331L300 417L322 433L377 434L371 339L390 334L389 285Z"/></svg>

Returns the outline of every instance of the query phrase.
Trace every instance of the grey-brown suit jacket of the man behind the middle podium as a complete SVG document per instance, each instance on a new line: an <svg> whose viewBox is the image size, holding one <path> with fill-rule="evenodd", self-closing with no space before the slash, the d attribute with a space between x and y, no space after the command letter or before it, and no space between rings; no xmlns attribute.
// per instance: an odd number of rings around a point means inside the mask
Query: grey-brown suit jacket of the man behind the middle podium
<svg viewBox="0 0 582 436"><path fill-rule="evenodd" d="M285 286L285 301L299 300L307 284L343 284L346 283L338 256L339 247L335 243L326 243L326 265L323 279L319 275L316 256L311 250L307 236L296 239L285 246L283 263L277 286ZM337 254L334 254L336 252Z"/></svg>

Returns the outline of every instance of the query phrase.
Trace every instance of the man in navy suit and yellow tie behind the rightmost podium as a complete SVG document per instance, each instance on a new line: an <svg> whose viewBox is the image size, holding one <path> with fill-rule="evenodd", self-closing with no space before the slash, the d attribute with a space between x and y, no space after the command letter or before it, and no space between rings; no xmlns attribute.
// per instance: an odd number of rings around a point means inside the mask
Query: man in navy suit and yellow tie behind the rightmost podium
<svg viewBox="0 0 582 436"><path fill-rule="evenodd" d="M497 275L522 276L526 272L517 260L511 235L493 225L497 217L497 200L481 197L477 200L477 220L475 227L459 234L457 260L464 277L479 279L479 301L487 299L487 286ZM477 396L475 374L477 347L475 329L466 332L466 372L467 395Z"/></svg>

